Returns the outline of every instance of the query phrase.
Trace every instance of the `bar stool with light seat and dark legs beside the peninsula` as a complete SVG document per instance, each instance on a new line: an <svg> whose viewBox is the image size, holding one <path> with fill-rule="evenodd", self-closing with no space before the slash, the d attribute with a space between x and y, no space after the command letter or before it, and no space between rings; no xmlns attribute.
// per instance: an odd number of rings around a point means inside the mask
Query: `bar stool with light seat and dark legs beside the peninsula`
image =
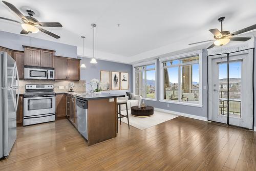
<svg viewBox="0 0 256 171"><path fill-rule="evenodd" d="M120 119L120 125L122 124L121 118L127 118L128 121L128 127L130 130L130 123L129 123L129 114L128 114L128 107L127 107L127 100L128 97L119 97L117 98L117 105L116 105L116 112L117 112L117 116L116 116L116 132L118 133L118 119ZM125 104L126 107L126 115L121 114L121 105ZM119 114L119 116L118 116Z"/></svg>

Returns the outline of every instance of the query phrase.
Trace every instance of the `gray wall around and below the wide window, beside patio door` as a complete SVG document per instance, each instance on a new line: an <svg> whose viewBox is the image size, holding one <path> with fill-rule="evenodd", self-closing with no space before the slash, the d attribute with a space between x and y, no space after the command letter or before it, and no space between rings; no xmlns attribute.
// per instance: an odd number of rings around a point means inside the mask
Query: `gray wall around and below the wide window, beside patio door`
<svg viewBox="0 0 256 171"><path fill-rule="evenodd" d="M145 103L147 105L152 105L155 108L160 108L164 110L169 111L175 111L175 112L181 112L185 114L190 115L197 115L202 117L207 117L207 90L202 90L202 108L196 107L196 106L188 106L188 105L181 105L181 104L173 104L173 103L165 103L159 101L159 89L160 89L160 83L159 83L159 60L157 60L157 101L150 101L145 100ZM202 87L206 86L207 88L207 51L203 50L202 55ZM167 107L167 104L169 104L169 107Z"/></svg>

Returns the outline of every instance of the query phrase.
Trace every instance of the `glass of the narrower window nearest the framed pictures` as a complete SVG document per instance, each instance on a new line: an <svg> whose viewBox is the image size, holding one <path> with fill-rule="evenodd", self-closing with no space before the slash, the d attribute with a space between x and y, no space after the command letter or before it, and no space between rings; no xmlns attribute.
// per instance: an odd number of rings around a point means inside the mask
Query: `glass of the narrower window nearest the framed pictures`
<svg viewBox="0 0 256 171"><path fill-rule="evenodd" d="M155 64L135 67L135 94L143 98L156 99L156 69Z"/></svg>

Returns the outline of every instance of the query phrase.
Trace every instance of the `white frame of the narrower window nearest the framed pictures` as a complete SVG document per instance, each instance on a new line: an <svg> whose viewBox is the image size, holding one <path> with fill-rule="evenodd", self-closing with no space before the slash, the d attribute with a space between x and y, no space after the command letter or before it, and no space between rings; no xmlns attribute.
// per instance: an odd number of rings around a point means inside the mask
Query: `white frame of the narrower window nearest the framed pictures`
<svg viewBox="0 0 256 171"><path fill-rule="evenodd" d="M137 67L142 67L142 66L149 66L149 65L155 65L155 69L146 69L146 70L142 70L142 71L155 71L155 98L146 98L146 97L142 97L143 100L151 100L151 101L157 101L157 60L150 60L150 61L146 61L146 62L141 62L138 63L137 65L133 65L133 93L136 93L136 68Z"/></svg>

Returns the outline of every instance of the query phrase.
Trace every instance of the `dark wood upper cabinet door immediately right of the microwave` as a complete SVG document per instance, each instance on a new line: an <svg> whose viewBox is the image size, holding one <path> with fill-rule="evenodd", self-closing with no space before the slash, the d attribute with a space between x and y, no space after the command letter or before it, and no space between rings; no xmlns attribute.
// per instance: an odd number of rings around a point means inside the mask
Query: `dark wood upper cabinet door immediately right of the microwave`
<svg viewBox="0 0 256 171"><path fill-rule="evenodd" d="M55 56L55 79L68 79L68 59L64 57Z"/></svg>

